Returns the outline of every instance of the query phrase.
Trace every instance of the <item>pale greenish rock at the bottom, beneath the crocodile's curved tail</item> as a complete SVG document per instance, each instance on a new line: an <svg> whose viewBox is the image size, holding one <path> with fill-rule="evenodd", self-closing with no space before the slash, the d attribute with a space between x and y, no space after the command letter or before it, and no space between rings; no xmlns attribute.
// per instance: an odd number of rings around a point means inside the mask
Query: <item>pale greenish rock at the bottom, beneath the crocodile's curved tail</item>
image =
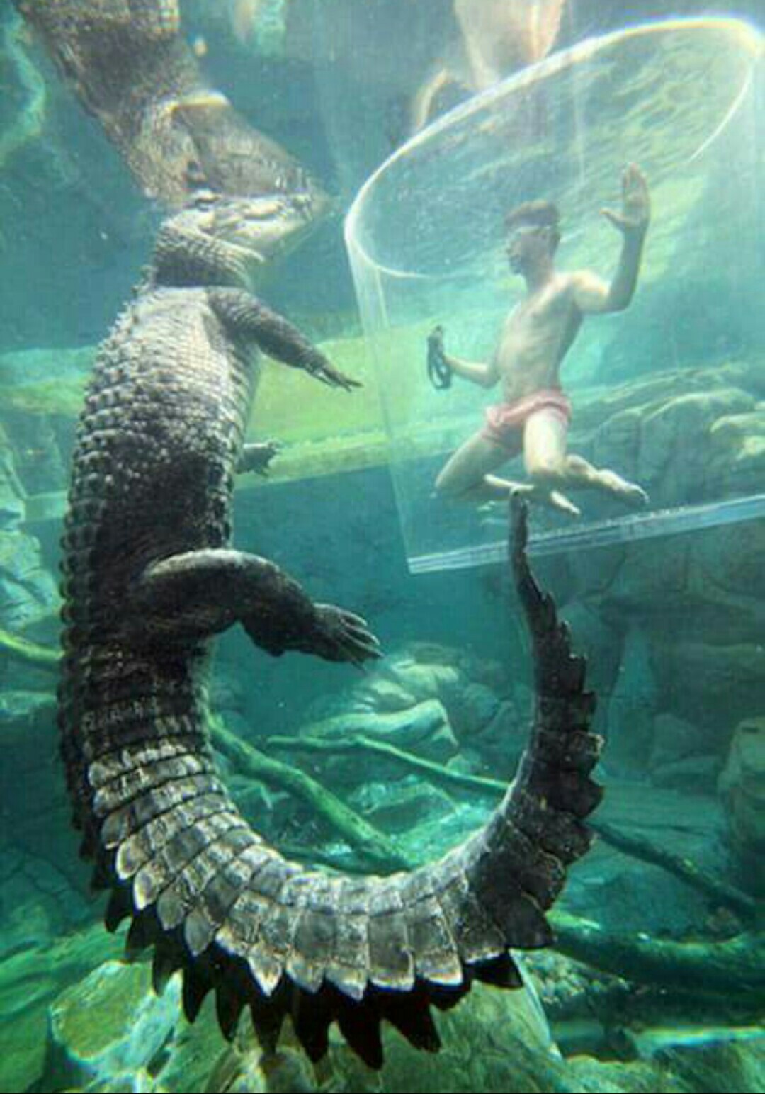
<svg viewBox="0 0 765 1094"><path fill-rule="evenodd" d="M385 1064L375 1072L334 1028L329 1054L316 1067L289 1028L276 1052L265 1052L248 1027L234 1045L221 1047L209 1002L189 1028L181 1017L175 978L158 1000L147 965L107 961L53 1003L45 1068L36 1089L232 1094L563 1090L547 1085L565 1064L528 977L526 985L512 993L476 985L463 1006L436 1014L443 1040L437 1057L418 1052L386 1025Z"/></svg>

